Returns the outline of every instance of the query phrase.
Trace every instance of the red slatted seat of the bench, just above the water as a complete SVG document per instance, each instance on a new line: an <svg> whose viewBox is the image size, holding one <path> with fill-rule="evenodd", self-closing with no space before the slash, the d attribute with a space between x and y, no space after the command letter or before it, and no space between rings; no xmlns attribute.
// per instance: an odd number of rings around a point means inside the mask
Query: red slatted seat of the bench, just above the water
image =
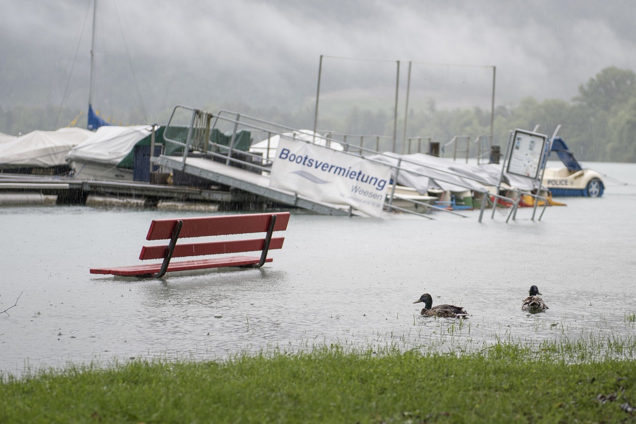
<svg viewBox="0 0 636 424"><path fill-rule="evenodd" d="M256 256L230 256L215 259L199 259L195 261L170 262L167 272L204 270L205 268L220 268L223 266L245 266L258 264L261 260ZM272 262L268 257L265 262ZM123 277L134 277L139 275L153 275L161 269L158 264L141 264L132 266L118 266L116 268L91 268L92 274L111 274Z"/></svg>

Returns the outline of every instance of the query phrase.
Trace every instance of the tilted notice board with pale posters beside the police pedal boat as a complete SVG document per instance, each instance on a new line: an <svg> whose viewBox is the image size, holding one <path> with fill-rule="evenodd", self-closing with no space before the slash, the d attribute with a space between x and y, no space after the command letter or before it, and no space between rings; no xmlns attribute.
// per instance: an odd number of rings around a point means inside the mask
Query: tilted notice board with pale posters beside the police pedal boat
<svg viewBox="0 0 636 424"><path fill-rule="evenodd" d="M508 174L538 179L543 168L548 136L532 131L516 129L509 146Z"/></svg>

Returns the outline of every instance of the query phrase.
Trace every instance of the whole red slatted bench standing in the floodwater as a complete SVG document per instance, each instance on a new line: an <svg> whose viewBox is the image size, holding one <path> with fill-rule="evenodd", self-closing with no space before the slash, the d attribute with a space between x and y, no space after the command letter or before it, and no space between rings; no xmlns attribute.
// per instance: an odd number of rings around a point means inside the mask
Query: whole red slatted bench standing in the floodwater
<svg viewBox="0 0 636 424"><path fill-rule="evenodd" d="M281 249L284 237L272 237L274 231L284 231L289 212L272 214L220 215L181 219L155 219L150 223L146 240L170 240L167 245L141 248L139 259L163 259L162 263L92 268L92 274L112 274L127 277L162 277L167 272L204 270L221 266L260 268L266 262L269 249ZM202 243L179 243L190 237L265 233L263 238L243 238ZM172 257L207 256L244 252L261 252L260 256L223 256L212 259L171 262Z"/></svg>

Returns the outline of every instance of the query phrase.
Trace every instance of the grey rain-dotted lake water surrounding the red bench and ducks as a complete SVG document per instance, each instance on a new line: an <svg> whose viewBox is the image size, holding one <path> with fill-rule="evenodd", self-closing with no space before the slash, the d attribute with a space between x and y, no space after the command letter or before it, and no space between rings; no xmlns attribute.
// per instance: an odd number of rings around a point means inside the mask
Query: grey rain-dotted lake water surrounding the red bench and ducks
<svg viewBox="0 0 636 424"><path fill-rule="evenodd" d="M471 351L513 340L630 339L636 312L636 164L589 163L602 198L560 198L541 221L328 217L293 212L260 270L160 280L92 275L138 262L151 219L201 212L0 209L0 373L130 358L225 359L339 343ZM622 184L622 183L628 184ZM521 311L536 284L550 309ZM420 317L461 304L467 320ZM636 352L624 352L632 358Z"/></svg>

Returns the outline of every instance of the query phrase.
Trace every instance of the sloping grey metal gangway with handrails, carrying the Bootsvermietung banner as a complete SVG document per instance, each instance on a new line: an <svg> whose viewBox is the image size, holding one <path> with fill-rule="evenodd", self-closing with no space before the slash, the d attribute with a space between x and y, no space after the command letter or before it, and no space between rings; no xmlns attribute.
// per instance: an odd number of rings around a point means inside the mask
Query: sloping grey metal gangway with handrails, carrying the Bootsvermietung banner
<svg viewBox="0 0 636 424"><path fill-rule="evenodd" d="M262 135L259 140L268 140L267 146L263 147L262 152L259 152L260 154L247 151L249 146L251 146L251 135L255 133ZM312 210L319 214L366 216L364 212L349 205L319 202L293 191L271 187L269 174L272 159L275 157L276 146L270 146L269 140L273 140L277 136L288 137L302 142L313 142L315 145L326 149L333 149L332 144L336 144L341 146L341 148L343 146L343 153L356 154L357 156L364 155L365 158L374 154L383 154L361 146L354 146L347 142L324 137L309 130L297 130L232 111L222 110L218 113L210 113L190 106L177 105L172 111L169 123L163 133L163 138L166 143L183 147L183 153L162 154L151 158L151 161L157 165L179 170L185 174L195 175L218 184L230 186L230 188L271 199L273 202ZM151 149L152 151L154 149ZM170 149L170 151L174 152L175 149ZM387 163L383 162L378 163L387 165ZM387 193L387 199L384 203L385 211L405 212L432 219L429 214L417 212L417 208L415 208L416 211L413 211L393 205L394 199L404 200L402 196L395 193L397 175L399 175L399 172L411 172L413 174L412 170L405 170L403 165L401 165L402 163L406 163L406 160L399 159L396 165L387 165L392 168L394 182L389 186L389 193ZM457 175L448 173L449 179L455 177ZM462 176L462 178L466 178L466 176ZM454 180L453 182L456 183ZM508 214L508 219L510 217L514 219L518 201L515 202L511 198L497 193L490 193L487 189L480 191L480 194L482 198L479 214L480 222L489 196L514 202L514 206ZM543 197L533 193L524 194L544 200ZM420 209L440 210L466 217L466 215L452 210L436 207L418 200L411 200L411 203L417 205ZM545 210L545 206L543 209ZM543 212L541 215L543 215ZM532 219L534 220L534 214ZM539 220L541 220L541 217L539 217Z"/></svg>

